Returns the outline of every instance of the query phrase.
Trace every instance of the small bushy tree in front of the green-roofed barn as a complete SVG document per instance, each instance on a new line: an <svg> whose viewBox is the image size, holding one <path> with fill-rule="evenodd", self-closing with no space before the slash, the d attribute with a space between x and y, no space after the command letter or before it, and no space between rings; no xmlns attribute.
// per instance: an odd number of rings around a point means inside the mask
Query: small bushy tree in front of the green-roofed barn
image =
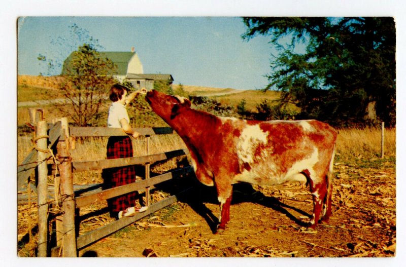
<svg viewBox="0 0 406 267"><path fill-rule="evenodd" d="M71 31L78 35L78 40L86 39L86 43L64 61L58 89L65 99L54 105L62 116L71 118L76 125L95 125L100 117L106 116L106 110L101 112L101 108L111 85L116 83L112 76L116 66L111 60L100 56L96 50L97 40L86 35L86 30L74 24ZM63 43L59 44L65 47ZM50 71L61 66L61 63L55 64L57 61L47 60L43 55L38 59L47 62Z"/></svg>

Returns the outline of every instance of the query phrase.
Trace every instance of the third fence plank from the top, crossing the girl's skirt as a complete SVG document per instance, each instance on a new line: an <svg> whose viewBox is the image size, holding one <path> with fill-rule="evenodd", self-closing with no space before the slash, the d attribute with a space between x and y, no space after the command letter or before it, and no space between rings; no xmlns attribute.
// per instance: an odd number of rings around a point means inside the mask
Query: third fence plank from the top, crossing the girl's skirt
<svg viewBox="0 0 406 267"><path fill-rule="evenodd" d="M88 206L90 204L99 202L99 201L104 201L110 198L114 198L123 194L127 194L133 191L139 191L139 192L144 192L145 188L148 186L153 186L155 184L179 177L182 174L186 174L188 172L191 172L192 168L191 167L186 167L182 169L175 170L173 172L168 172L164 173L161 175L154 176L149 179L129 183L126 185L121 185L113 188L109 188L106 190L103 190L102 192L92 194L92 195L87 195L87 196L81 196L76 198L76 207L81 208Z"/></svg>

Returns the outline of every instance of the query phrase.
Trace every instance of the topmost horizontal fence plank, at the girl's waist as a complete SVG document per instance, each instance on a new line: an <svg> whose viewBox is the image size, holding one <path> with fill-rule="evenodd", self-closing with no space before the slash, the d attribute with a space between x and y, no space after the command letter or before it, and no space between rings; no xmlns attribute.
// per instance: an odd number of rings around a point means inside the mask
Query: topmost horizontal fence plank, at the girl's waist
<svg viewBox="0 0 406 267"><path fill-rule="evenodd" d="M172 134L174 130L170 127L156 128L133 128L141 135ZM103 137L103 136L126 136L121 128L106 127L70 127L72 137Z"/></svg>

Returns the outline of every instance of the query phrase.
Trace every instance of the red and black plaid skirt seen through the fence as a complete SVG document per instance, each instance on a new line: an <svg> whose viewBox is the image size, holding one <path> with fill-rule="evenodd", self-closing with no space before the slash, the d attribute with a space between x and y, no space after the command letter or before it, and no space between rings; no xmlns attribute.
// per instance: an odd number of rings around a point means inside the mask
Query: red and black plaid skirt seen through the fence
<svg viewBox="0 0 406 267"><path fill-rule="evenodd" d="M112 136L107 142L107 159L133 157L132 143L129 136ZM134 166L110 168L103 170L104 187L111 188L136 181ZM115 217L121 210L136 204L138 193L132 192L107 200L110 216Z"/></svg>

